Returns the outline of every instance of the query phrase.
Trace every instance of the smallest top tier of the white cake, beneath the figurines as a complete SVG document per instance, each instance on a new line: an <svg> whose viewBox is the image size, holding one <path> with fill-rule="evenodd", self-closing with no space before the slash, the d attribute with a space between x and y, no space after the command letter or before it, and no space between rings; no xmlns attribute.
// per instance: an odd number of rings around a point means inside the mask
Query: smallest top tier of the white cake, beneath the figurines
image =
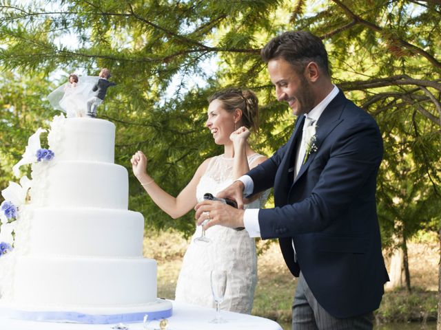
<svg viewBox="0 0 441 330"><path fill-rule="evenodd" d="M57 160L114 162L115 125L94 118L68 118L62 121L49 147Z"/></svg>

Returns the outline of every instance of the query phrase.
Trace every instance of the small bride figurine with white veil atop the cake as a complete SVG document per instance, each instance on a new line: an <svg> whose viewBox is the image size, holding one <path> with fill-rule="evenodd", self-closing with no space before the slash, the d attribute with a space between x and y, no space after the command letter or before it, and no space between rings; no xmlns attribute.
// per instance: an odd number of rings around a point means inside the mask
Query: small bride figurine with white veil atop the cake
<svg viewBox="0 0 441 330"><path fill-rule="evenodd" d="M85 117L86 102L94 96L92 87L99 77L70 74L68 83L61 85L48 95L52 107L66 113L66 117Z"/></svg>

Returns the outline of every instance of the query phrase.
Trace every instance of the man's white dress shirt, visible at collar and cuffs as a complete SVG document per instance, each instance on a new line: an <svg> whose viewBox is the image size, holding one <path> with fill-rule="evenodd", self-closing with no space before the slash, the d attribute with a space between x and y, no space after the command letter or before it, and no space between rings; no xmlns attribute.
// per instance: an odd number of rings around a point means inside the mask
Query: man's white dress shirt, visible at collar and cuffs
<svg viewBox="0 0 441 330"><path fill-rule="evenodd" d="M334 100L334 98L338 94L338 88L336 85L334 85L334 88L331 90L331 92L319 103L307 113L308 117L313 119L315 122L318 121L318 118L320 118L320 115L325 110L327 105L331 102L331 100ZM297 157L300 151L297 151ZM299 161L300 162L300 161ZM296 164L298 163L298 159L296 159ZM301 164L300 164L301 165ZM296 174L298 173L298 170L300 169L300 166L296 169ZM239 181L242 181L245 189L243 190L243 195L251 195L254 189L254 182L251 177L248 175L243 175L238 178ZM260 237L260 226L259 226L259 209L258 208L247 208L243 214L243 224L245 226L245 230L247 230L250 237Z"/></svg>

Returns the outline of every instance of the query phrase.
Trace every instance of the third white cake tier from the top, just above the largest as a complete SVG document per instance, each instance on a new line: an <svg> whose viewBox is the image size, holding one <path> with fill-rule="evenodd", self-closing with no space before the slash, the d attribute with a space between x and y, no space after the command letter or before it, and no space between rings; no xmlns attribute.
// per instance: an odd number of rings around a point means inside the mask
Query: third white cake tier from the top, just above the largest
<svg viewBox="0 0 441 330"><path fill-rule="evenodd" d="M102 208L35 208L30 254L141 257L144 218L139 212Z"/></svg>

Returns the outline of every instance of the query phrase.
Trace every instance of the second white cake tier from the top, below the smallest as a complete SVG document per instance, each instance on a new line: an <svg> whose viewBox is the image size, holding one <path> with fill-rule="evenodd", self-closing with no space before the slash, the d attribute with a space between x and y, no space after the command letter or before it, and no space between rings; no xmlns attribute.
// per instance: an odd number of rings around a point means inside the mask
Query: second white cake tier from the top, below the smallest
<svg viewBox="0 0 441 330"><path fill-rule="evenodd" d="M42 206L120 208L127 210L127 170L102 162L55 162L32 187ZM32 198L34 196L32 195ZM41 198L40 198L41 197Z"/></svg>

